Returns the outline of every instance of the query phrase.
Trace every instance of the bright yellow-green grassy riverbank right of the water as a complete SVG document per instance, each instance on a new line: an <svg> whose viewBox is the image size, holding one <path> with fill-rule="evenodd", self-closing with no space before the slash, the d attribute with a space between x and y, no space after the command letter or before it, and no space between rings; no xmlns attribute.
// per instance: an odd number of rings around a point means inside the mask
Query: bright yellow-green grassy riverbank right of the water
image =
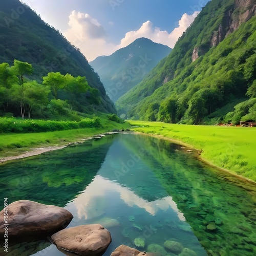
<svg viewBox="0 0 256 256"><path fill-rule="evenodd" d="M167 137L203 150L202 159L256 181L256 129L132 121L136 132Z"/></svg>

